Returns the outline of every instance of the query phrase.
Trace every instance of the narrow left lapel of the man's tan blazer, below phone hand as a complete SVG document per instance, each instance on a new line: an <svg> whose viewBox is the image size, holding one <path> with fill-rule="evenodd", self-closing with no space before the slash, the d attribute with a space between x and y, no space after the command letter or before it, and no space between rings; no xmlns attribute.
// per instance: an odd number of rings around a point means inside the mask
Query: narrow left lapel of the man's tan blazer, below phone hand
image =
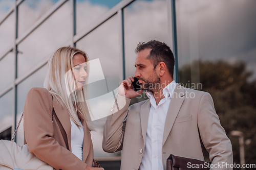
<svg viewBox="0 0 256 170"><path fill-rule="evenodd" d="M148 115L150 115L150 100L147 100L140 108L140 121L141 121L141 130L142 136L145 143L146 140L146 129L147 129L147 122L148 122Z"/></svg>

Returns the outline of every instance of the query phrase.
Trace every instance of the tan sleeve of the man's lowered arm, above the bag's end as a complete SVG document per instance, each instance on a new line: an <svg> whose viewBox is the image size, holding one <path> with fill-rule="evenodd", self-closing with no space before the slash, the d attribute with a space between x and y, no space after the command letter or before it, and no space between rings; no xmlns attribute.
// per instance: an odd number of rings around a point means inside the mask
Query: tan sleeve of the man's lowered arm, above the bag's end
<svg viewBox="0 0 256 170"><path fill-rule="evenodd" d="M209 93L205 93L199 104L198 129L205 149L209 153L214 169L232 169L218 164L232 164L232 145L224 128L220 124L219 116L214 108L214 101Z"/></svg>

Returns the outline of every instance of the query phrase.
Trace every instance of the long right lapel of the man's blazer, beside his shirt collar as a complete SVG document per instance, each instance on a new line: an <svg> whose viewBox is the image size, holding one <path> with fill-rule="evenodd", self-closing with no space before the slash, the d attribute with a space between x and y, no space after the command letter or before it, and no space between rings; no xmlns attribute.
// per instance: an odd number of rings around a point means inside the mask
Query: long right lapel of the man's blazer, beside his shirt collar
<svg viewBox="0 0 256 170"><path fill-rule="evenodd" d="M181 108L181 105L184 101L184 95L185 95L185 90L184 87L181 85L177 84L176 88L174 89L174 94L172 96L172 99L170 100L169 108L167 111L166 119L165 119L165 124L164 124L164 132L163 132L163 144L165 143L170 130L172 130L174 121L179 113L179 110Z"/></svg>

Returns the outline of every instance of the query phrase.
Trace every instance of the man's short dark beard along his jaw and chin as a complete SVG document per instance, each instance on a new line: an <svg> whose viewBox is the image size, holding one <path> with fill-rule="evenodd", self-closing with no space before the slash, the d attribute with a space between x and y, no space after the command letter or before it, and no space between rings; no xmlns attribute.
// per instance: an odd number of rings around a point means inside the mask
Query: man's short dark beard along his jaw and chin
<svg viewBox="0 0 256 170"><path fill-rule="evenodd" d="M142 90L151 90L153 92L159 91L161 89L161 80L157 76L156 72L148 78L144 79L143 77L138 78L138 80L144 81L144 84L140 84Z"/></svg>

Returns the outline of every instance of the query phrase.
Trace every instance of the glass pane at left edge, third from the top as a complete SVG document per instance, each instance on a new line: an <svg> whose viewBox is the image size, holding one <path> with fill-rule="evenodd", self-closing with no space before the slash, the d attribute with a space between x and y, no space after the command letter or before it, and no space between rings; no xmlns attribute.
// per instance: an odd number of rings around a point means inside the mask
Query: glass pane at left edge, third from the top
<svg viewBox="0 0 256 170"><path fill-rule="evenodd" d="M12 86L14 80L14 54L9 53L0 60L0 91L8 85Z"/></svg>

